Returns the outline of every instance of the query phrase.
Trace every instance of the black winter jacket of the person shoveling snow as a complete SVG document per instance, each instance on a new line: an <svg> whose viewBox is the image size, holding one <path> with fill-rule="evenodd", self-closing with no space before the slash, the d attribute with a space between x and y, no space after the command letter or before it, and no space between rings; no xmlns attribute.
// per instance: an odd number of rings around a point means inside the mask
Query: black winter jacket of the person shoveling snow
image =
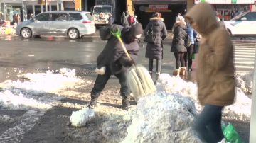
<svg viewBox="0 0 256 143"><path fill-rule="evenodd" d="M124 46L127 48L127 52L135 61L139 54L139 42L137 39L130 40L129 29L130 28L123 28L120 25L114 25L122 30L122 40L124 41ZM107 44L105 45L104 49L97 57L97 68L100 67L110 67L112 74L119 74L122 71L126 71L127 67L123 66L123 63L127 60L127 56L122 50L122 46L113 35L111 35L110 30L112 26L106 26L100 28L100 38L102 40L107 40Z"/></svg>

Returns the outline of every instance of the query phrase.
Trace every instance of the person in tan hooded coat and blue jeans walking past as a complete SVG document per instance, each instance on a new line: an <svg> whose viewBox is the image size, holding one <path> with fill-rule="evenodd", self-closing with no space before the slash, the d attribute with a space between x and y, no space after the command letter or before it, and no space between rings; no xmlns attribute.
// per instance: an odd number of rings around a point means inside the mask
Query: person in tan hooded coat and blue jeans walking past
<svg viewBox="0 0 256 143"><path fill-rule="evenodd" d="M221 130L222 110L233 104L235 98L233 44L228 31L220 28L210 4L196 4L185 18L202 36L196 81L198 100L204 108L194 120L193 130L205 142L225 142Z"/></svg>

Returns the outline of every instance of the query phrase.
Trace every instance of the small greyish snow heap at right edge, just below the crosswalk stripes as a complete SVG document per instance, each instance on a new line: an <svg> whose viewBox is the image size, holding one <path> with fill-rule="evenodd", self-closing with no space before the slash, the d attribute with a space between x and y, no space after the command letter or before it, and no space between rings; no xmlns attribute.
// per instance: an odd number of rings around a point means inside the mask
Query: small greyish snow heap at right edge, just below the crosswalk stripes
<svg viewBox="0 0 256 143"><path fill-rule="evenodd" d="M253 75L254 71L244 75L236 75L238 88L241 88L245 93L252 93Z"/></svg>

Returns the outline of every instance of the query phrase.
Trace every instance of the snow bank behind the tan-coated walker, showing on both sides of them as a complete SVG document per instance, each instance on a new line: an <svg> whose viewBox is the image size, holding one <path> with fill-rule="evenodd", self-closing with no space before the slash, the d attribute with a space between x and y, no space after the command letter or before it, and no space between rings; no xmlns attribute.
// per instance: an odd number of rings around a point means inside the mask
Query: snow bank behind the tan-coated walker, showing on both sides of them
<svg viewBox="0 0 256 143"><path fill-rule="evenodd" d="M168 93L180 93L182 96L191 98L195 102L196 109L201 112L202 106L198 103L197 85L192 82L186 82L179 76L170 76L161 74L156 83L158 91ZM233 105L226 106L223 110L224 118L235 120L250 120L252 100L248 98L239 88L236 88L236 99Z"/></svg>

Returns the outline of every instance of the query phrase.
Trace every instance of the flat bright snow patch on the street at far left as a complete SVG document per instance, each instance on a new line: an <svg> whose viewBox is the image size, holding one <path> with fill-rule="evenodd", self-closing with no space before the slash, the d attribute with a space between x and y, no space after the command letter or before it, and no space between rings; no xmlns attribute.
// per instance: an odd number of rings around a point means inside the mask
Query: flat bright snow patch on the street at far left
<svg viewBox="0 0 256 143"><path fill-rule="evenodd" d="M54 74L52 71L38 74L21 74L17 81L1 83L0 108L10 110L49 109L51 103L64 98L55 94L63 88L70 88L81 80L73 76Z"/></svg>

